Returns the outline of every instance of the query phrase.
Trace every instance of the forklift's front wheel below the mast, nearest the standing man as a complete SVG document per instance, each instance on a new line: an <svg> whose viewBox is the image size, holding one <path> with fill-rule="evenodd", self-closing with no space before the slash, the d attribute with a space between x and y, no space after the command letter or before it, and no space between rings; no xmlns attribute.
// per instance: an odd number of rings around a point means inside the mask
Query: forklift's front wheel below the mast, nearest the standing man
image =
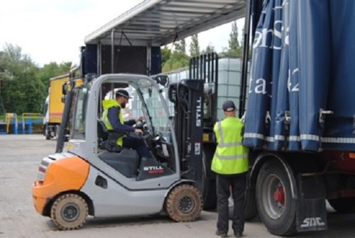
<svg viewBox="0 0 355 238"><path fill-rule="evenodd" d="M165 200L165 211L175 222L192 222L202 211L202 195L192 185L178 185Z"/></svg>

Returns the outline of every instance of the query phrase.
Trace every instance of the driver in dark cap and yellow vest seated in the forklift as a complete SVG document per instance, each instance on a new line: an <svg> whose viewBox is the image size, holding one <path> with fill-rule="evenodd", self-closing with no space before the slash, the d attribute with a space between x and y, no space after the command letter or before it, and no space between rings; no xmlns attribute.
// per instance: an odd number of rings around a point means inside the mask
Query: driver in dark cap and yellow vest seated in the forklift
<svg viewBox="0 0 355 238"><path fill-rule="evenodd" d="M119 129L121 131L133 131L138 134L143 134L141 129L136 129L133 127L137 121L142 121L143 117L124 121L121 109L126 107L126 104L129 102L130 98L131 97L129 97L129 92L126 90L117 90L116 99L102 101L102 105L104 107L102 121L104 121L107 129ZM141 158L152 158L151 153L149 152L148 147L144 143L143 139L137 139L131 136L121 136L117 140L117 144L125 148L136 149Z"/></svg>

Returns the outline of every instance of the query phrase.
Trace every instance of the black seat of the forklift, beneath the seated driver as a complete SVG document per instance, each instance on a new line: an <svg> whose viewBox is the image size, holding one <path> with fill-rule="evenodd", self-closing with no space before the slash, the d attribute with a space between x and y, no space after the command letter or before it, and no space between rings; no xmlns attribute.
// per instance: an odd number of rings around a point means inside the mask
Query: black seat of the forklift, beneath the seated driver
<svg viewBox="0 0 355 238"><path fill-rule="evenodd" d="M120 152L124 148L119 146L116 141L119 137L124 136L124 131L108 130L104 121L97 119L97 140L99 148L109 152Z"/></svg>

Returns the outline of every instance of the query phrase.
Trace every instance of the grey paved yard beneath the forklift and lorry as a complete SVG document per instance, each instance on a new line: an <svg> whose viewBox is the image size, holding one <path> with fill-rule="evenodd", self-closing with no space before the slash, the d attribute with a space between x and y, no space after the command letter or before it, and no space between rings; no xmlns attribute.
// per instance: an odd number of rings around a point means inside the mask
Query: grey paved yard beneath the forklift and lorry
<svg viewBox="0 0 355 238"><path fill-rule="evenodd" d="M200 220L177 223L168 217L89 219L80 230L59 232L48 217L35 212L31 184L40 159L55 151L55 141L42 135L0 135L0 238L3 237L216 237L216 212ZM354 237L355 215L329 212L329 230L296 237ZM229 232L229 237L232 233ZM245 237L274 237L256 218L246 223Z"/></svg>

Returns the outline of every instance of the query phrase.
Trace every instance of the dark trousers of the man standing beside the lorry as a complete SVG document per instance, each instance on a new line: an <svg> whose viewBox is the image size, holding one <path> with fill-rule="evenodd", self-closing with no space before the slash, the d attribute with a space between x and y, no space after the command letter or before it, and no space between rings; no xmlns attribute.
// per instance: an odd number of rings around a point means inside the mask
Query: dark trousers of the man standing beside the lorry
<svg viewBox="0 0 355 238"><path fill-rule="evenodd" d="M230 194L234 200L234 217L232 228L234 233L244 231L244 200L246 189L246 173L236 175L217 174L217 229L219 232L228 232ZM231 193L230 193L231 191Z"/></svg>

